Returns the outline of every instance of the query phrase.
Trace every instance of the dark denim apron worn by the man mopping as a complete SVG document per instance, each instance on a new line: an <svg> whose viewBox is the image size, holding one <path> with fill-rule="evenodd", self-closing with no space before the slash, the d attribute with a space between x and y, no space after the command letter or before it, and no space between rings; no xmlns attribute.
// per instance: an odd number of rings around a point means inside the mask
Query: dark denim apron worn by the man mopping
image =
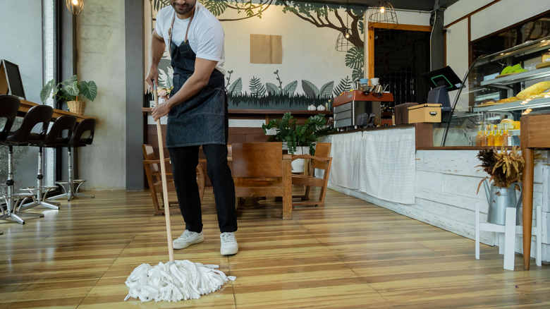
<svg viewBox="0 0 550 309"><path fill-rule="evenodd" d="M191 15L187 32L194 15L195 12ZM175 16L176 13L174 12L173 18ZM171 97L181 89L185 81L195 72L196 54L187 40L187 32L185 32L185 40L181 42L180 46L171 41L170 35L169 44L173 68ZM166 123L166 147L207 144L226 145L227 119L224 74L214 68L207 86L187 101L181 102L170 110Z"/></svg>

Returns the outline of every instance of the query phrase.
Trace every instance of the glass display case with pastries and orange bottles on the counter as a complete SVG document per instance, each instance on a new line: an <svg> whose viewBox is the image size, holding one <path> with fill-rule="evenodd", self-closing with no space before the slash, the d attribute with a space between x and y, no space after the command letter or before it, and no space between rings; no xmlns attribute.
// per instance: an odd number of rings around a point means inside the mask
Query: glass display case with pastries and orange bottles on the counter
<svg viewBox="0 0 550 309"><path fill-rule="evenodd" d="M435 129L434 142L520 145L521 116L550 111L550 37L480 56L453 95L451 113Z"/></svg>

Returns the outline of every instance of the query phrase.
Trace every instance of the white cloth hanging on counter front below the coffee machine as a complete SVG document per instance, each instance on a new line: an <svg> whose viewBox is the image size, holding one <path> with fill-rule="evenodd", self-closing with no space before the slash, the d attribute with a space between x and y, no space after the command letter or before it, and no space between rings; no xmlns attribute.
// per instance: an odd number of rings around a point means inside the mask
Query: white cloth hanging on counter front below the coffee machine
<svg viewBox="0 0 550 309"><path fill-rule="evenodd" d="M415 128L332 137L329 181L381 200L415 203Z"/></svg>

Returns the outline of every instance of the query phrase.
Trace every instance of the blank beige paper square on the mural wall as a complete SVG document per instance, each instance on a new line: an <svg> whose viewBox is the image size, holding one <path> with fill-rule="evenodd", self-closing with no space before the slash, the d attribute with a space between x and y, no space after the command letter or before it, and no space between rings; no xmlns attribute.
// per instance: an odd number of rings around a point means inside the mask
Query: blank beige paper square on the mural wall
<svg viewBox="0 0 550 309"><path fill-rule="evenodd" d="M283 63L281 35L250 35L250 63Z"/></svg>

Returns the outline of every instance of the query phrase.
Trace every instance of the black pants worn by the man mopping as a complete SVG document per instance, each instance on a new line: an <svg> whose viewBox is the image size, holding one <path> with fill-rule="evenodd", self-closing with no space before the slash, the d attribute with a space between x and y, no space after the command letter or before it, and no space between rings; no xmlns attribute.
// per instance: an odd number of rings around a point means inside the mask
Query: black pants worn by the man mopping
<svg viewBox="0 0 550 309"><path fill-rule="evenodd" d="M227 164L227 146L202 145L202 150L207 159L207 174L214 189L219 230L221 233L236 231L235 184ZM199 146L169 148L169 152L185 229L200 233L202 212L196 171Z"/></svg>

